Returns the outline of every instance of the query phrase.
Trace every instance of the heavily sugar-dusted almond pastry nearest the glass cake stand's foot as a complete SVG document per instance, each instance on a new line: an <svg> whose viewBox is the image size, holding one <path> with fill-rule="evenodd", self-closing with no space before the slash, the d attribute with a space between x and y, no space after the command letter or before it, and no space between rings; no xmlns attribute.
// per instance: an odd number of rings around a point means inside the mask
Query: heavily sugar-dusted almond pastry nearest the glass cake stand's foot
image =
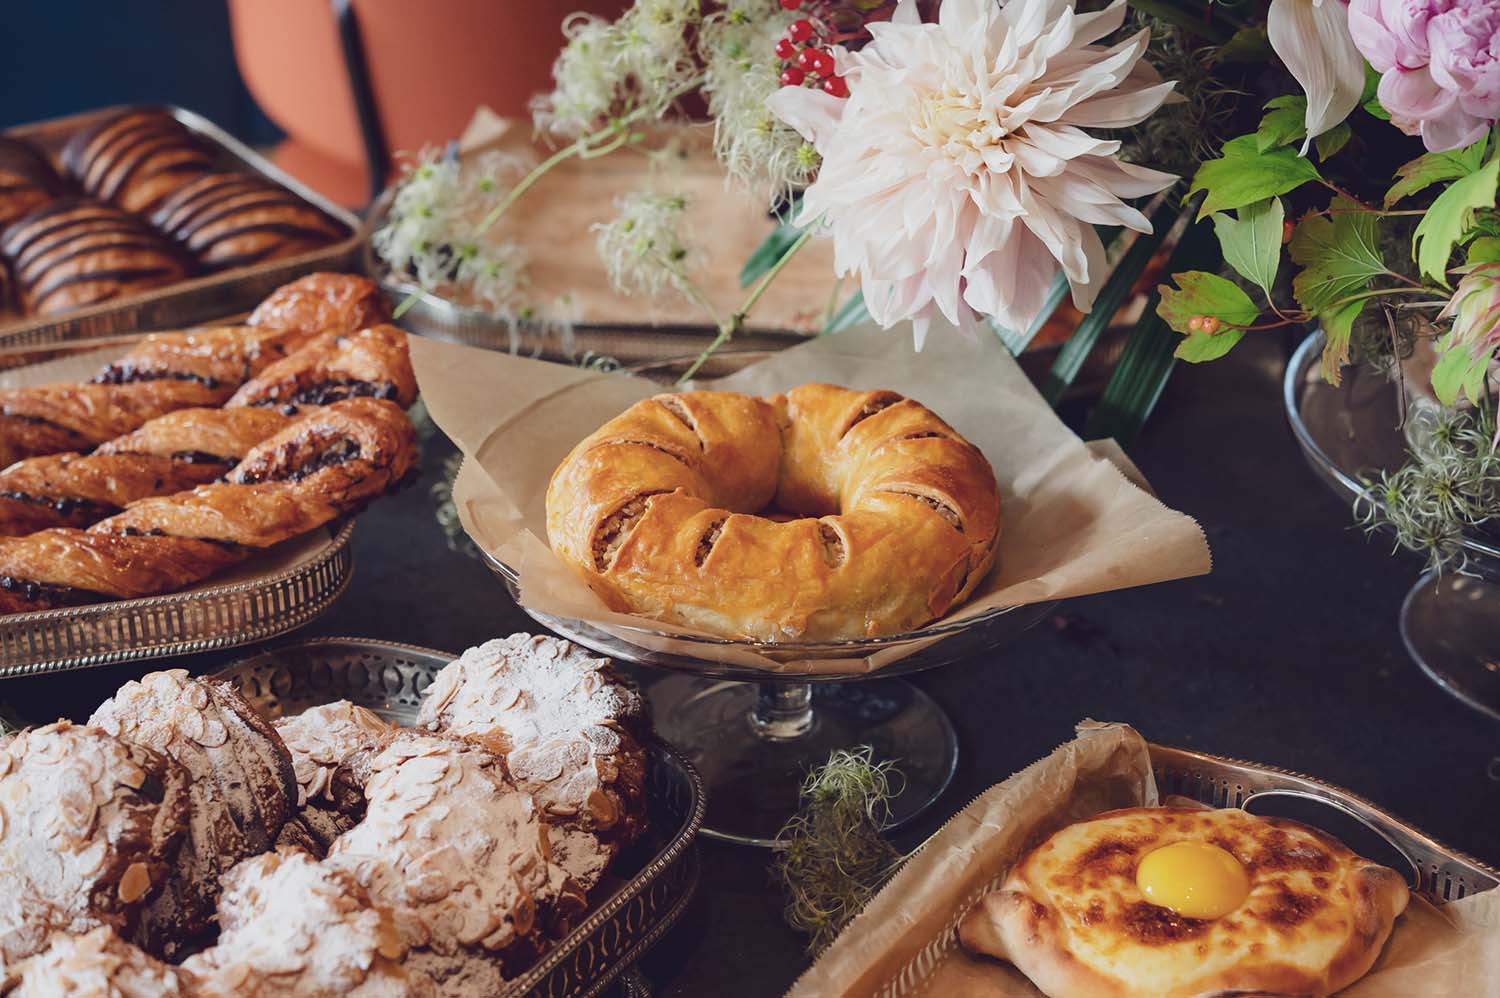
<svg viewBox="0 0 1500 998"><path fill-rule="evenodd" d="M516 633L438 672L417 723L483 740L549 816L606 831L640 818L645 752L628 729L644 713L609 659Z"/></svg>

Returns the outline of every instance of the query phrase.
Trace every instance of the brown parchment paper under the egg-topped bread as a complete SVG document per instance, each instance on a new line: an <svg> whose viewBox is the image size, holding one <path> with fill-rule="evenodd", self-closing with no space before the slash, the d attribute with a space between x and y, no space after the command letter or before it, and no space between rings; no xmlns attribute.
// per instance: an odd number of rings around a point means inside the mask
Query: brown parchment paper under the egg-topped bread
<svg viewBox="0 0 1500 998"><path fill-rule="evenodd" d="M788 998L1040 998L1006 963L970 956L958 921L1058 828L1156 804L1146 741L1083 722L1077 738L992 786L891 878ZM1500 890L1432 906L1413 896L1371 972L1347 998L1478 998L1500 981Z"/></svg>

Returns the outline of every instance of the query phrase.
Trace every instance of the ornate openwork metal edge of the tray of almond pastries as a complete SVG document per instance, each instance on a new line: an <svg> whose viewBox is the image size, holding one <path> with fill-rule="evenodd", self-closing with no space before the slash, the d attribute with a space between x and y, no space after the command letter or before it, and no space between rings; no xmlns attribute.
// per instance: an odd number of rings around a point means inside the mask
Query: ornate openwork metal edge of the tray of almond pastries
<svg viewBox="0 0 1500 998"><path fill-rule="evenodd" d="M426 687L426 683L420 681L420 678L430 681L430 675L416 677L408 675L408 672L423 668L430 668L435 672L456 657L435 648L393 641L312 638L261 650L231 663L219 671L216 677L236 681L250 702L256 705L273 704L273 708L279 710L280 699L297 698L292 698L288 692L278 692L273 687L274 678L266 683L264 692L260 692L249 684L248 674L267 668L272 663L285 665L284 660L297 653L352 653L362 659L370 659L378 672L370 669L370 663L360 662L360 668L364 672L368 689L372 692L378 690L387 713L406 713L406 708L414 707L414 704L406 701L416 701ZM410 662L402 663L400 659L404 657ZM404 665L408 668L404 669ZM348 678L348 671L345 671L344 678ZM314 692L316 693L336 692L339 681L340 678L334 674L334 669L320 669L316 677L309 677L309 683L315 686ZM350 693L357 692L348 686L344 686L344 689ZM357 696L351 696L351 699L357 699ZM398 707L392 707L393 699ZM380 708L374 699L366 705ZM660 792L662 788L658 783L675 780L676 791L687 795L681 824L639 872L594 908L536 966L512 981L506 995L550 995L555 998L591 998L597 995L633 963L642 951L652 945L676 921L688 900L692 900L699 878L698 851L693 848L693 840L704 819L704 785L693 764L676 752L676 749L662 741L652 743L650 749L652 767L651 777L648 779L648 791ZM664 801L660 803L668 806ZM656 894L662 897L656 897ZM652 903L657 905L657 909L648 911L646 906ZM632 906L644 909L642 915L645 921L638 921L632 926L632 918L628 917ZM614 927L612 933L609 927ZM602 941L602 945L609 945L606 936L615 944L624 942L621 950L618 953L592 953L591 944L596 939Z"/></svg>

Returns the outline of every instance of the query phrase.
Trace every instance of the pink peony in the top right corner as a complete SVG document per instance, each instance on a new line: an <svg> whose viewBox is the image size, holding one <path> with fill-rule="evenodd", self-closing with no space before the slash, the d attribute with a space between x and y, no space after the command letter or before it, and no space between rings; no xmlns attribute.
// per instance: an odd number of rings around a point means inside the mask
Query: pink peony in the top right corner
<svg viewBox="0 0 1500 998"><path fill-rule="evenodd" d="M1431 152L1500 119L1500 0L1350 0L1348 32L1390 120Z"/></svg>

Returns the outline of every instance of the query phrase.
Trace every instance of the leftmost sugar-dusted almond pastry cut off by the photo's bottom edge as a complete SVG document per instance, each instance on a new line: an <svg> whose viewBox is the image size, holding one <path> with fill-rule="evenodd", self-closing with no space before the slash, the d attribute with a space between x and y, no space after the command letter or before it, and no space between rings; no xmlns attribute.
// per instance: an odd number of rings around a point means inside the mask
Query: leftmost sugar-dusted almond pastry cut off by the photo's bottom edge
<svg viewBox="0 0 1500 998"><path fill-rule="evenodd" d="M99 927L58 935L40 956L21 965L10 998L180 998L182 972Z"/></svg>

